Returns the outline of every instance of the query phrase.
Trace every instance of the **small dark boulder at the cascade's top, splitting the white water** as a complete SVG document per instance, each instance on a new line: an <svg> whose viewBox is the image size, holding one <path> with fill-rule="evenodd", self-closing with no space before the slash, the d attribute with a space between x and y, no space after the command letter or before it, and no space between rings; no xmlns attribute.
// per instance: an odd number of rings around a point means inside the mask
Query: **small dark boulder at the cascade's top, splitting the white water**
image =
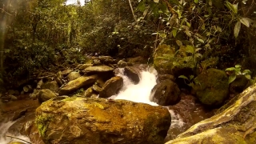
<svg viewBox="0 0 256 144"><path fill-rule="evenodd" d="M128 78L130 78L134 84L138 84L140 80L140 72L139 70L134 66L126 66L124 70L124 74L127 75Z"/></svg>

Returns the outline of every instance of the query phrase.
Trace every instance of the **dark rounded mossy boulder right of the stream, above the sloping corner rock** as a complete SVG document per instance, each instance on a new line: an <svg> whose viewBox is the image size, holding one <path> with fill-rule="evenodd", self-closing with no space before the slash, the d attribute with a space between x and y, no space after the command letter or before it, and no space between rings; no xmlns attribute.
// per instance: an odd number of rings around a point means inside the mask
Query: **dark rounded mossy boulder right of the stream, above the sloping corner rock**
<svg viewBox="0 0 256 144"><path fill-rule="evenodd" d="M207 106L220 106L229 94L229 83L226 73L210 68L194 78L193 89L197 98Z"/></svg>

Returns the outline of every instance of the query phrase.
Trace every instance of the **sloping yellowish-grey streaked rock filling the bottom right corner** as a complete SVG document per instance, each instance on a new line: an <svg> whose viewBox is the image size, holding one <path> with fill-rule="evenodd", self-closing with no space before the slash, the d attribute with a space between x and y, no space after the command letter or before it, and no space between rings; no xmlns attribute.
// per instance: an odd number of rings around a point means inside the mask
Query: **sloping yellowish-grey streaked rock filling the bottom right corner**
<svg viewBox="0 0 256 144"><path fill-rule="evenodd" d="M256 84L222 106L212 118L198 122L166 144L256 142Z"/></svg>

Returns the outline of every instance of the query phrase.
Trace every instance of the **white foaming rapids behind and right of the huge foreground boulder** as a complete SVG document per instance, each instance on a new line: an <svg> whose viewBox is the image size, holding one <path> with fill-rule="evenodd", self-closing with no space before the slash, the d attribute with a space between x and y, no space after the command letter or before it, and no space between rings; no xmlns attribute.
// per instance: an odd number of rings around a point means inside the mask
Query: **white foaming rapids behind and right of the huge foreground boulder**
<svg viewBox="0 0 256 144"><path fill-rule="evenodd" d="M157 71L153 68L141 72L141 79L137 85L134 85L124 74L124 69L118 69L118 76L123 78L124 86L117 95L113 95L112 99L126 99L133 102L142 102L151 106L158 106L155 102L150 102L150 92L157 84ZM173 110L168 109L171 115L171 128L182 127L184 122L179 114L175 114Z"/></svg>

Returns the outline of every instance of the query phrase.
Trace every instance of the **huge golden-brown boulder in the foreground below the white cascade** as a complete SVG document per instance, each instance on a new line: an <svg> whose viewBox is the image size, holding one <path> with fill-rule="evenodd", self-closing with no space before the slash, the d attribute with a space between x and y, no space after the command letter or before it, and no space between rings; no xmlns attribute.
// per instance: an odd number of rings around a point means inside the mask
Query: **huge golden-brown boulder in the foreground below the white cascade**
<svg viewBox="0 0 256 144"><path fill-rule="evenodd" d="M162 106L104 98L58 97L36 110L36 125L46 144L162 144L170 121Z"/></svg>

